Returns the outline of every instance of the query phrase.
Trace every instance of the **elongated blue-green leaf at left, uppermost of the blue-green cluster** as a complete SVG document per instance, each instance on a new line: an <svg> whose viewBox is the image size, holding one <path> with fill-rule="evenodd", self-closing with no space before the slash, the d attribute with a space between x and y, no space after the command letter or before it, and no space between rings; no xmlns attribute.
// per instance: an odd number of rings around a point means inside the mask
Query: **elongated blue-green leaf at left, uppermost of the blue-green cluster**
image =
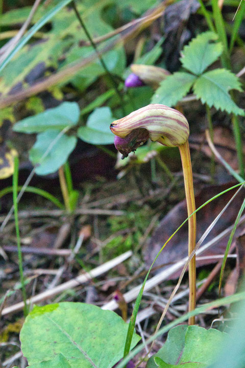
<svg viewBox="0 0 245 368"><path fill-rule="evenodd" d="M63 102L58 107L21 120L14 125L13 130L22 133L40 133L52 128L62 130L76 125L79 114L79 105L76 102Z"/></svg>

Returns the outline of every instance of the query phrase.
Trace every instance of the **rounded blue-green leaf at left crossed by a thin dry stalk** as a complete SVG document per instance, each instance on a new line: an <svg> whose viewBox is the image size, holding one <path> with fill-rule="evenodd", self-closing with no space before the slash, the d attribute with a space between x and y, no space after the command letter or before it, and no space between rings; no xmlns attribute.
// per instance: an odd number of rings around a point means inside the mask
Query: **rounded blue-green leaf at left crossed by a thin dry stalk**
<svg viewBox="0 0 245 368"><path fill-rule="evenodd" d="M47 175L57 171L65 164L69 154L76 147L77 138L75 136L63 134L57 140L59 134L59 130L49 129L37 135L37 141L29 151L29 158L33 165L40 163L35 171L38 175ZM57 142L54 144L55 140ZM42 159L50 148L50 152Z"/></svg>

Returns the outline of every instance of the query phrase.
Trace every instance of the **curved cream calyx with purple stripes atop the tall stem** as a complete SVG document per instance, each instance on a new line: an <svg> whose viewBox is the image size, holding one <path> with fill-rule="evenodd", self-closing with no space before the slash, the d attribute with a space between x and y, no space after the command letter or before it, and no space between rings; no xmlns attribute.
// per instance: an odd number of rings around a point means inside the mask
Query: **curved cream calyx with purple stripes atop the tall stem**
<svg viewBox="0 0 245 368"><path fill-rule="evenodd" d="M157 141L167 147L178 147L189 136L189 124L184 115L160 104L151 104L133 111L125 118L115 120L110 129L112 133L125 139L135 129L145 129L153 142ZM138 147L140 144L137 144Z"/></svg>

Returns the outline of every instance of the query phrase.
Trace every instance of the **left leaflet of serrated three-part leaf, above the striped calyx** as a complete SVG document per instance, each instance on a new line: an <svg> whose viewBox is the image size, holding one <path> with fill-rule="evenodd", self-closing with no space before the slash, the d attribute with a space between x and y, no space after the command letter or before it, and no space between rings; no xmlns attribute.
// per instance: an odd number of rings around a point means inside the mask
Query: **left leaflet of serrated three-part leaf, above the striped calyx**
<svg viewBox="0 0 245 368"><path fill-rule="evenodd" d="M169 75L160 83L152 97L152 103L175 106L187 94L196 79L194 75L184 72Z"/></svg>

